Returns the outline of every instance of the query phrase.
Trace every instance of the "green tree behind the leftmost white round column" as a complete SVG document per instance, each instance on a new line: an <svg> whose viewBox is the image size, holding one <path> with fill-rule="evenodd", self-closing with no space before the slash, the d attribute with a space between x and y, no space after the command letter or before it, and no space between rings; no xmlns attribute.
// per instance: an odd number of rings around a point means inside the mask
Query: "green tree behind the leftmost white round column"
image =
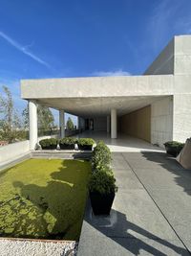
<svg viewBox="0 0 191 256"><path fill-rule="evenodd" d="M29 107L27 106L22 113L24 127L29 128ZM47 106L37 105L38 128L53 128L54 118L51 109Z"/></svg>

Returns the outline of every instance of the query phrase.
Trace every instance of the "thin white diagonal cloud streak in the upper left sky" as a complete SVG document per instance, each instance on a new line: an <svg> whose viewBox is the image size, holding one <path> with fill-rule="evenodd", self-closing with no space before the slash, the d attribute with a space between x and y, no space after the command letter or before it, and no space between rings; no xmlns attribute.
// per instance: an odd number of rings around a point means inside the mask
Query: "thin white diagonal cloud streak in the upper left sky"
<svg viewBox="0 0 191 256"><path fill-rule="evenodd" d="M28 50L29 45L28 46L20 45L17 41L15 41L9 35L6 35L2 31L0 31L0 37L4 38L7 42L9 42L11 44L11 46L16 48L18 51L20 51L23 54L29 56L30 58L32 58L33 60L37 61L38 63L40 63L40 64L50 68L50 65L46 61L44 61L42 58L39 58L36 55L32 54L32 52Z"/></svg>

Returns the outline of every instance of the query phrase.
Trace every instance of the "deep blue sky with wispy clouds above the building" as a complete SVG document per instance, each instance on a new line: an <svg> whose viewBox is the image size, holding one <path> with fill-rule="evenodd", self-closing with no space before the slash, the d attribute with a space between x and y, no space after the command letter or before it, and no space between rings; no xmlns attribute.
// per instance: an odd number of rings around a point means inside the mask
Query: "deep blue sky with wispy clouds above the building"
<svg viewBox="0 0 191 256"><path fill-rule="evenodd" d="M190 0L0 0L0 85L21 112L20 79L142 74L174 35L191 34L190 10Z"/></svg>

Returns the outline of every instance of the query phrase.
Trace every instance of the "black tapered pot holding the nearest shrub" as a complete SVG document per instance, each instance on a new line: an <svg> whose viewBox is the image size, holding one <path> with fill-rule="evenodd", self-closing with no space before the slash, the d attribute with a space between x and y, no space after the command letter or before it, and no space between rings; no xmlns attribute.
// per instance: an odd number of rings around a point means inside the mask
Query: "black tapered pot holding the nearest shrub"
<svg viewBox="0 0 191 256"><path fill-rule="evenodd" d="M95 215L109 215L115 193L102 195L97 192L90 192L91 204Z"/></svg>

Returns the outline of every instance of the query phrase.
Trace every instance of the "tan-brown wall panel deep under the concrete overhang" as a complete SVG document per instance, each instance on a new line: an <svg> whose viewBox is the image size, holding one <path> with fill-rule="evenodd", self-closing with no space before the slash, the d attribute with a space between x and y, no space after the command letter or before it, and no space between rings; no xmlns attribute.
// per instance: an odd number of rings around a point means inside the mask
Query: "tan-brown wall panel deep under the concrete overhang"
<svg viewBox="0 0 191 256"><path fill-rule="evenodd" d="M146 106L120 118L121 132L151 141L151 106Z"/></svg>

